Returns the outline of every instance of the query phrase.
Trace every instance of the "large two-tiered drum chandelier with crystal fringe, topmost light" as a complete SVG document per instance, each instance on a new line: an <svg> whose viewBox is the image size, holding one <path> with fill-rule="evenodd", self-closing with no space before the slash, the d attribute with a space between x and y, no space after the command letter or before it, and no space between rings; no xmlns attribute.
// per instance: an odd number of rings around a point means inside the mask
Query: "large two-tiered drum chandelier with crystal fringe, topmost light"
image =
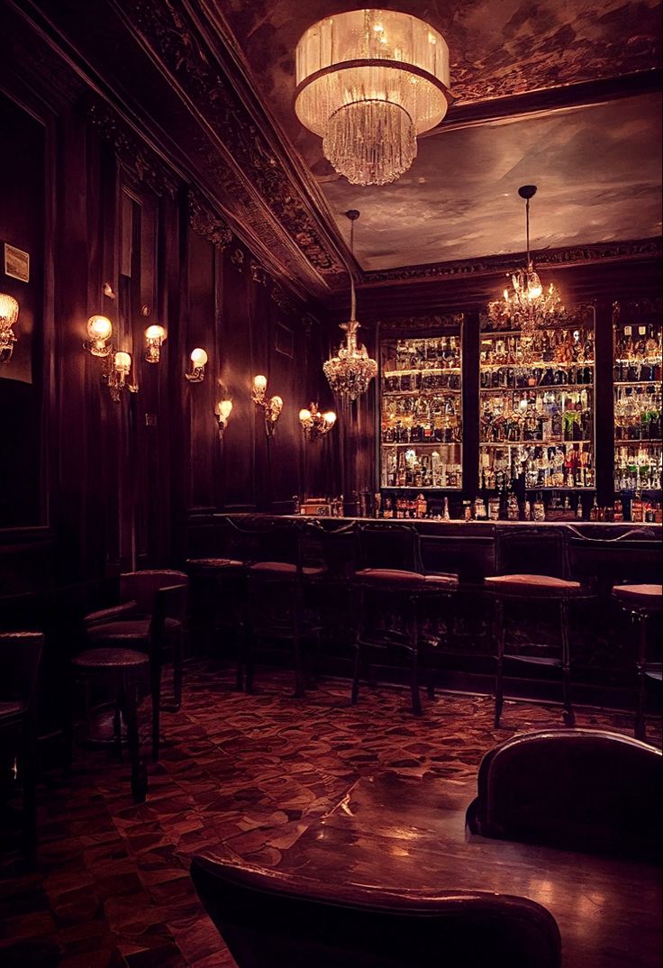
<svg viewBox="0 0 663 968"><path fill-rule="evenodd" d="M319 20L296 50L297 117L353 185L386 185L407 171L416 136L449 100L449 48L416 16L353 10Z"/></svg>

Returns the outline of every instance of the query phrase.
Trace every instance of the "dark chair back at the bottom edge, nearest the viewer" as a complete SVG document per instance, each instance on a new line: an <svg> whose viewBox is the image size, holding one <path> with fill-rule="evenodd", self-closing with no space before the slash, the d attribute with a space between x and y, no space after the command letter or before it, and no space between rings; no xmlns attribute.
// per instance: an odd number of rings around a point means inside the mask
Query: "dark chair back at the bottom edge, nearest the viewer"
<svg viewBox="0 0 663 968"><path fill-rule="evenodd" d="M238 968L554 968L553 916L489 892L336 888L195 857L196 892Z"/></svg>

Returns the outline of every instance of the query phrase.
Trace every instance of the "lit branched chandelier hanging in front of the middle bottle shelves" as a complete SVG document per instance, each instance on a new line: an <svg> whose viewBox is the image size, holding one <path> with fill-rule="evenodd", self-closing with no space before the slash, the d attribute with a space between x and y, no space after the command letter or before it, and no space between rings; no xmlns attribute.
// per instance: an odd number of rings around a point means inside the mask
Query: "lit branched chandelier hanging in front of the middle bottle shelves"
<svg viewBox="0 0 663 968"><path fill-rule="evenodd" d="M504 289L502 299L489 303L488 316L500 327L520 329L519 355L522 359L519 361L527 364L536 355L540 331L546 326L567 321L567 317L558 288L551 283L544 289L529 255L529 199L536 194L536 185L522 185L518 194L526 199L527 263L524 269L511 276L511 291Z"/></svg>

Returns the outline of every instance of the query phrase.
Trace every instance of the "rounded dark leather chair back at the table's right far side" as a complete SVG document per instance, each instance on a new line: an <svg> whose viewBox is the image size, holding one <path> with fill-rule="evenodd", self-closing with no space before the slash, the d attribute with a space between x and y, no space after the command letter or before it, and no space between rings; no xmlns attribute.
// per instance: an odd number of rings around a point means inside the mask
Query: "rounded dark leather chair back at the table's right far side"
<svg viewBox="0 0 663 968"><path fill-rule="evenodd" d="M484 756L467 824L487 837L653 858L661 778L661 751L645 742L602 730L526 733Z"/></svg>

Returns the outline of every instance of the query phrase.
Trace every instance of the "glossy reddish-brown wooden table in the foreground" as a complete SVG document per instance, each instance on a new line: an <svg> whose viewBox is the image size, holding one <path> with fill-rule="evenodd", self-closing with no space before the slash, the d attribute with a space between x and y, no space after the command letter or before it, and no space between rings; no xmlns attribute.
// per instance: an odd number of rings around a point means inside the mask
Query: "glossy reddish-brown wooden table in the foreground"
<svg viewBox="0 0 663 968"><path fill-rule="evenodd" d="M563 968L660 968L661 871L466 834L473 784L363 777L279 869L328 883L520 894L556 918Z"/></svg>

